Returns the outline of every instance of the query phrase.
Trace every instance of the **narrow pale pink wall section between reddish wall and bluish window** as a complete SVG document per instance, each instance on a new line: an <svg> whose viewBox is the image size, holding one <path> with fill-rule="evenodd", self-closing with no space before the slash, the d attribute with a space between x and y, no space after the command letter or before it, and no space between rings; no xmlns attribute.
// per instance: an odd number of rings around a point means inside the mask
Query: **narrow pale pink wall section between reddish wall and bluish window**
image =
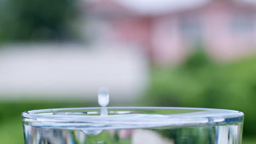
<svg viewBox="0 0 256 144"><path fill-rule="evenodd" d="M179 33L178 17L159 17L153 25L153 53L157 63L177 63L186 50Z"/></svg>

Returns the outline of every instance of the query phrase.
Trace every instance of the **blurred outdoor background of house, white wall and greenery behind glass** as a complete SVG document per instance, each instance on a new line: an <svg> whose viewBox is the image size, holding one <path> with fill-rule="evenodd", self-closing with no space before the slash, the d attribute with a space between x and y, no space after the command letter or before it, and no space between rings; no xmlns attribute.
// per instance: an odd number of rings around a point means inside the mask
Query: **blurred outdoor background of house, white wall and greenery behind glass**
<svg viewBox="0 0 256 144"><path fill-rule="evenodd" d="M0 138L22 144L21 112L183 106L245 113L256 143L255 0L0 1Z"/></svg>

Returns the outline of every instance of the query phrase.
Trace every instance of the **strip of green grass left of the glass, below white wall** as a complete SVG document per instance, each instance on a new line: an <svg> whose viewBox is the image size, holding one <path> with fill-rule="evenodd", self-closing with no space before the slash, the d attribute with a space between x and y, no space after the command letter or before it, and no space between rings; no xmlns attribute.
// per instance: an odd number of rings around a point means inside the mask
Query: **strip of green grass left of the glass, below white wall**
<svg viewBox="0 0 256 144"><path fill-rule="evenodd" d="M53 101L26 101L14 103L0 103L0 143L24 144L21 113L28 110L51 109L61 107L93 106L92 103L72 101L57 103Z"/></svg>

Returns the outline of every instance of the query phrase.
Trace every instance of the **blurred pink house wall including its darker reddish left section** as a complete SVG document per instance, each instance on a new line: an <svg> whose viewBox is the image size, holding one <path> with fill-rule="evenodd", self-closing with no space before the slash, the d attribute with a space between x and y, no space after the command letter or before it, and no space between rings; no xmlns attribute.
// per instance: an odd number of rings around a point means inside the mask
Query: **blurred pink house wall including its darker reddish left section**
<svg viewBox="0 0 256 144"><path fill-rule="evenodd" d="M193 51L194 35L188 37L181 30L181 22L187 19L200 22L199 38L214 58L233 59L254 52L256 47L256 8L245 3L214 0L198 8L158 16L124 11L111 14L110 35L116 43L141 47L156 63L178 63ZM251 32L232 32L232 20L239 14L253 17Z"/></svg>

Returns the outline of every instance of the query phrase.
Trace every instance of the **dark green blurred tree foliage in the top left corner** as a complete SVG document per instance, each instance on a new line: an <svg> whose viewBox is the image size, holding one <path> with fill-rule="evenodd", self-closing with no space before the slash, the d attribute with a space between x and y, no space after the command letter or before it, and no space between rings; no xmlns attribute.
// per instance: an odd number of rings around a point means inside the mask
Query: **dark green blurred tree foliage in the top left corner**
<svg viewBox="0 0 256 144"><path fill-rule="evenodd" d="M69 23L77 15L78 1L8 0L0 3L2 42L72 39Z"/></svg>

